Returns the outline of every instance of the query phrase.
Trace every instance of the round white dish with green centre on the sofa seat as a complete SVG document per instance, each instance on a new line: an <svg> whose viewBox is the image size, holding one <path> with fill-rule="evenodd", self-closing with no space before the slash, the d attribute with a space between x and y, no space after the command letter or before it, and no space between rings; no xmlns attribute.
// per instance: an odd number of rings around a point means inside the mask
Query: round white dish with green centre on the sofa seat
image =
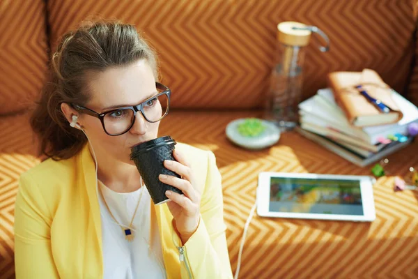
<svg viewBox="0 0 418 279"><path fill-rule="evenodd" d="M263 149L277 143L280 130L263 119L245 118L230 122L225 129L231 142L246 149Z"/></svg>

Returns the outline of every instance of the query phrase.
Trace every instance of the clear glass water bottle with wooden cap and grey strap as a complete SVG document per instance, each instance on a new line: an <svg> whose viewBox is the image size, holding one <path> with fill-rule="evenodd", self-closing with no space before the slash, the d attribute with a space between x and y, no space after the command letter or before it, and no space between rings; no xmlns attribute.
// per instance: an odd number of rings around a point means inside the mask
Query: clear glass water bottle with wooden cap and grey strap
<svg viewBox="0 0 418 279"><path fill-rule="evenodd" d="M320 47L322 52L329 50L329 40L318 27L299 22L281 22L277 29L278 44L265 104L265 119L276 123L281 130L292 130L299 119L297 105L302 95L305 46L309 44L312 32L327 42L326 47Z"/></svg>

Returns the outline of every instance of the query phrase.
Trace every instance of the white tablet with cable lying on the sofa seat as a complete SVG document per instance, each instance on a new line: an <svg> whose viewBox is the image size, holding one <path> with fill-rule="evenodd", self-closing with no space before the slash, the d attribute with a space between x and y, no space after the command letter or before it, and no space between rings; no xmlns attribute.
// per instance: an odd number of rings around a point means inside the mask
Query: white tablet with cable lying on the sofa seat
<svg viewBox="0 0 418 279"><path fill-rule="evenodd" d="M257 214L265 217L376 219L372 176L261 172Z"/></svg>

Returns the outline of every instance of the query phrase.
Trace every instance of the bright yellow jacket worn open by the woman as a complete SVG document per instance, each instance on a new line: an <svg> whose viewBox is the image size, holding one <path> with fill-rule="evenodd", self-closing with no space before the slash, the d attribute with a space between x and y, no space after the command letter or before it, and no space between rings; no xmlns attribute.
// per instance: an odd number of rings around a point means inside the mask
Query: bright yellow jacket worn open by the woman
<svg viewBox="0 0 418 279"><path fill-rule="evenodd" d="M221 175L210 151L176 144L199 179L201 222L181 246L167 204L151 202L167 278L232 278ZM15 206L16 277L102 278L102 227L88 144L68 160L45 160L20 177ZM180 251L185 251L180 262Z"/></svg>

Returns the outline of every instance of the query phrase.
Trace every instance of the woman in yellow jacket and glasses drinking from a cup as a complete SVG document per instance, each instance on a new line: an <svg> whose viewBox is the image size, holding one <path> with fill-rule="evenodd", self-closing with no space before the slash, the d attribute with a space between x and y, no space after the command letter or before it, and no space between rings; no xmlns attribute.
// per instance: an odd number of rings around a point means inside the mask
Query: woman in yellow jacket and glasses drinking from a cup
<svg viewBox="0 0 418 279"><path fill-rule="evenodd" d="M16 199L17 278L232 278L213 153L176 144L164 166L182 179L160 180L184 195L158 206L130 160L157 137L171 93L135 27L66 33L51 68L31 119L49 158Z"/></svg>

